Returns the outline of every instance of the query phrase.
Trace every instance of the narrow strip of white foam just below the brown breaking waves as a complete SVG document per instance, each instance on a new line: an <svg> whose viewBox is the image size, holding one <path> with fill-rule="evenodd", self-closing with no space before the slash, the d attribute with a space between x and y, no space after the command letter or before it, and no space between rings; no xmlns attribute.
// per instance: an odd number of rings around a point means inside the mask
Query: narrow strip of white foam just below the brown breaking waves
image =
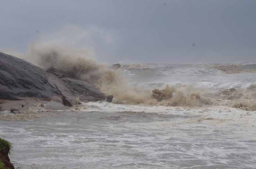
<svg viewBox="0 0 256 169"><path fill-rule="evenodd" d="M81 107L70 109L71 111L81 112L145 112L157 114L203 115L204 118L214 118L221 120L231 120L239 122L249 122L256 120L256 111L248 112L242 109L226 106L207 106L207 107L167 107L167 106L141 106L141 105L122 105L108 102L89 102L83 103ZM242 118L249 117L249 118Z"/></svg>

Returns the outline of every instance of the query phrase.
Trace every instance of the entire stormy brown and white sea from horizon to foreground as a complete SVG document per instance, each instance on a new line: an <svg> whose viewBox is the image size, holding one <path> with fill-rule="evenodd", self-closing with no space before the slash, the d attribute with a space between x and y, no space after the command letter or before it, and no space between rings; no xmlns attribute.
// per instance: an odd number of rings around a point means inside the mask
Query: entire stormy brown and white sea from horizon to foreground
<svg viewBox="0 0 256 169"><path fill-rule="evenodd" d="M95 70L98 63L91 63L88 69ZM39 118L27 114L23 120L0 121L0 137L12 141L15 167L256 167L255 64L118 63L101 68L81 78L112 94L112 102L80 102L69 110L38 107Z"/></svg>

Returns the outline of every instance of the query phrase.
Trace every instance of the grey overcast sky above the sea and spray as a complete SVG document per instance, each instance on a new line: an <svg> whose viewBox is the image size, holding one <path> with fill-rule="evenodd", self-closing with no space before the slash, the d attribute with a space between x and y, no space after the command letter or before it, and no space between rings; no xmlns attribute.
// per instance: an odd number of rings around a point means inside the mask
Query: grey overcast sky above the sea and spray
<svg viewBox="0 0 256 169"><path fill-rule="evenodd" d="M0 23L0 50L55 38L104 62L256 62L256 0L1 0Z"/></svg>

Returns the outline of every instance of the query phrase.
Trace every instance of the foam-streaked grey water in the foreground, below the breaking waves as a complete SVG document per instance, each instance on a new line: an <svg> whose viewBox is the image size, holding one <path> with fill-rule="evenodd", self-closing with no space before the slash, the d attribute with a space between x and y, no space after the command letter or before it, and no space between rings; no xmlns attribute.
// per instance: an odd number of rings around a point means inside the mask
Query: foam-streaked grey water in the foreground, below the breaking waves
<svg viewBox="0 0 256 169"><path fill-rule="evenodd" d="M51 118L0 121L0 137L13 143L11 158L23 169L249 169L255 120L256 112L223 106L90 102Z"/></svg>

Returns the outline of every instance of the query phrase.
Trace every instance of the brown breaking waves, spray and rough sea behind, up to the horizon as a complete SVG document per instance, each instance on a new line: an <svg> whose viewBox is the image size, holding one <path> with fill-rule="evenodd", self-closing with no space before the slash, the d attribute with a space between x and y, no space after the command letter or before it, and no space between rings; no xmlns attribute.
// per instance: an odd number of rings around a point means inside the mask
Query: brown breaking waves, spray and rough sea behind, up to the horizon
<svg viewBox="0 0 256 169"><path fill-rule="evenodd" d="M121 64L111 69L87 50L34 43L23 59L95 84L115 104L229 106L256 111L254 64Z"/></svg>

